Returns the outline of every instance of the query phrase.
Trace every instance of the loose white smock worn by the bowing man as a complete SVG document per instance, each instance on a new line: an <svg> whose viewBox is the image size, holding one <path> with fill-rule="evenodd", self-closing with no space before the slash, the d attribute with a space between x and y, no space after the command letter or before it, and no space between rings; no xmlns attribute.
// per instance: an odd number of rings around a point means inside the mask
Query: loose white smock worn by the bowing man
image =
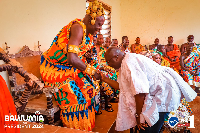
<svg viewBox="0 0 200 133"><path fill-rule="evenodd" d="M196 92L173 69L135 53L126 53L119 76L120 88L116 130L123 131L137 125L135 95L146 93L140 122L153 126L159 119L158 112L176 110L180 100L195 99ZM182 93L181 93L182 92Z"/></svg>

